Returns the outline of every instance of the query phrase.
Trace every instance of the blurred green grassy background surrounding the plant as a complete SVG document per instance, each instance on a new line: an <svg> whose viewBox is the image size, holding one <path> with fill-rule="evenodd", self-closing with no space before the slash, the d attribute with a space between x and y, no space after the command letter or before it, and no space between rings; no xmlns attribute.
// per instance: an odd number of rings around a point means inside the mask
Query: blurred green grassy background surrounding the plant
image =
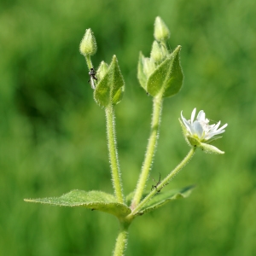
<svg viewBox="0 0 256 256"><path fill-rule="evenodd" d="M125 78L116 125L125 194L135 188L152 107L137 81L137 58L139 50L149 55L157 15L172 32L172 49L182 45L185 79L164 102L148 189L189 151L181 110L189 118L193 108L204 109L214 122L228 123L215 143L226 154L195 154L168 185L195 183L192 195L138 218L126 255L255 255L254 0L1 1L1 255L111 254L119 229L112 216L23 199L72 189L113 192L104 111L79 54L89 27L98 45L94 66L115 54Z"/></svg>

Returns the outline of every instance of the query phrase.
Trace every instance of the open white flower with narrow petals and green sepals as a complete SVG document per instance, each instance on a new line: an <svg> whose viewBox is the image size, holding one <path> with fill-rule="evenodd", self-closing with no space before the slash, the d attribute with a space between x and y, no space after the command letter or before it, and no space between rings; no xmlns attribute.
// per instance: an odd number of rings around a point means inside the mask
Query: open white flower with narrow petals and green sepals
<svg viewBox="0 0 256 256"><path fill-rule="evenodd" d="M201 110L195 119L196 108L193 109L191 113L191 119L187 120L183 117L183 112L181 112L184 136L188 140L191 146L199 146L200 148L206 150L207 152L214 152L218 154L224 154L223 151L219 150L212 145L207 143L212 142L219 138L219 134L224 133L224 128L228 124L223 125L218 128L220 121L215 125L209 125L209 119L206 118L206 113Z"/></svg>

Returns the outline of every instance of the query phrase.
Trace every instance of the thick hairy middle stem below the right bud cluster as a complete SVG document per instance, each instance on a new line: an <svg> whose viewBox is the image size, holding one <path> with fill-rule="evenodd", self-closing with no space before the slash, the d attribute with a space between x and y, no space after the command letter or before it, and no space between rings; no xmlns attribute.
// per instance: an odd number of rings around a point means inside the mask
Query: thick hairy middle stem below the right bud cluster
<svg viewBox="0 0 256 256"><path fill-rule="evenodd" d="M154 158L154 152L159 134L162 102L162 96L154 97L151 132L148 139L148 147L145 155L145 160L143 162L142 172L138 179L135 195L131 203L131 209L137 207L138 203L141 201L141 198L143 196L143 189L145 188L145 184L148 179L148 174Z"/></svg>

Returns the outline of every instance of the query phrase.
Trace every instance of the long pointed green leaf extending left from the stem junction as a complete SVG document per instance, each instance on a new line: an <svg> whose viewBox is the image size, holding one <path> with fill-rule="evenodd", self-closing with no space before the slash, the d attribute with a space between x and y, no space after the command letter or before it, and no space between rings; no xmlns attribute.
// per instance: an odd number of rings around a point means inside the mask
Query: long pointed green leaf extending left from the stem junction
<svg viewBox="0 0 256 256"><path fill-rule="evenodd" d="M102 191L72 190L60 197L25 199L24 201L49 204L59 207L86 207L91 210L108 212L123 218L131 212L125 204L119 203L113 195Z"/></svg>

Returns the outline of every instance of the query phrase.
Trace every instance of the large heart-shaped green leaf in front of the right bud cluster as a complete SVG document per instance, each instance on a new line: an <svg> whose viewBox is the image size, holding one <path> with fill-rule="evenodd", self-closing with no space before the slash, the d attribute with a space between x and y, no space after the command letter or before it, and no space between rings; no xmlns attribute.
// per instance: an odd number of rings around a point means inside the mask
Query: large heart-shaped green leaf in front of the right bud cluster
<svg viewBox="0 0 256 256"><path fill-rule="evenodd" d="M158 96L161 92L163 97L169 97L177 94L181 89L183 72L179 61L180 49L181 46L177 46L149 76L146 89L151 96Z"/></svg>

